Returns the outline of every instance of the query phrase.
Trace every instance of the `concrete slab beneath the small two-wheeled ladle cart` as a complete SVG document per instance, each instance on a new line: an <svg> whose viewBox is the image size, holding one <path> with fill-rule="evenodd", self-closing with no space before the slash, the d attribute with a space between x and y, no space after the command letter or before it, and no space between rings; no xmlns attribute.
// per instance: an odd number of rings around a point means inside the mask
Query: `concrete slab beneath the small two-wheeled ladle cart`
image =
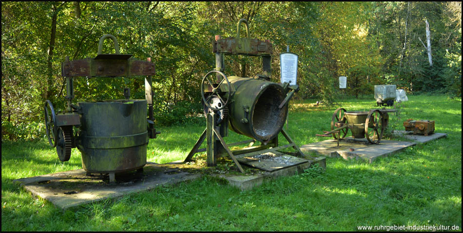
<svg viewBox="0 0 463 233"><path fill-rule="evenodd" d="M315 142L300 147L302 152L316 152L327 157L343 157L344 159L364 159L369 163L376 158L387 156L409 146L414 146L413 142L401 142L392 140L381 140L381 144L367 144L366 138L354 139L346 137L346 140L339 141L339 147L334 139Z"/></svg>

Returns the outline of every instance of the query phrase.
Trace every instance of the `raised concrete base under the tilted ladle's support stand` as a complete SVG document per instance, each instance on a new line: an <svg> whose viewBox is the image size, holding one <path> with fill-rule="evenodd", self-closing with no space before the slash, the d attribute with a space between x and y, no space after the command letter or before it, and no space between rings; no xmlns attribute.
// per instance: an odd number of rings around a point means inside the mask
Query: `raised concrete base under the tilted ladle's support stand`
<svg viewBox="0 0 463 233"><path fill-rule="evenodd" d="M319 164L320 167L326 169L326 158L317 157L309 158L309 162L298 164L295 166L289 166L282 169L268 171L257 171L256 174L251 175L231 175L231 174L213 174L213 176L223 178L229 182L231 186L238 187L241 190L250 190L253 187L260 186L266 181L270 181L281 176L292 176L296 172L302 173L304 169Z"/></svg>

